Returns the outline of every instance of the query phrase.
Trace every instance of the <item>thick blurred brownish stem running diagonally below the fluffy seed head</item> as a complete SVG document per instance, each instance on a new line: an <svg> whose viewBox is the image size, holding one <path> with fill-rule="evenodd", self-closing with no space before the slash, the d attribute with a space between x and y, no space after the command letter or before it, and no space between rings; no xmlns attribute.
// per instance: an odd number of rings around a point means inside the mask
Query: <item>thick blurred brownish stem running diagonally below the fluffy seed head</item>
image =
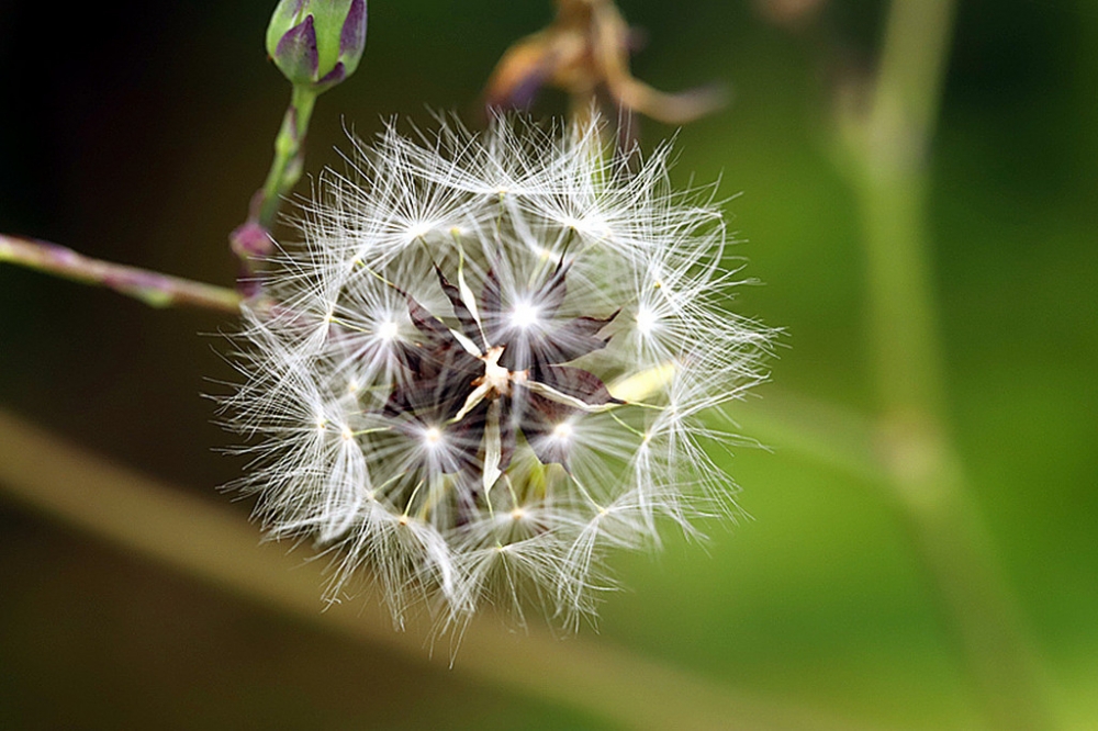
<svg viewBox="0 0 1098 731"><path fill-rule="evenodd" d="M255 528L184 490L117 466L0 411L0 490L10 498L127 551L356 641L445 670L415 632L394 632L380 605L323 605L323 563L256 546ZM495 617L472 621L452 672L584 710L631 729L864 731L867 727L750 698L605 642L560 642ZM735 726L730 727L729 723Z"/></svg>

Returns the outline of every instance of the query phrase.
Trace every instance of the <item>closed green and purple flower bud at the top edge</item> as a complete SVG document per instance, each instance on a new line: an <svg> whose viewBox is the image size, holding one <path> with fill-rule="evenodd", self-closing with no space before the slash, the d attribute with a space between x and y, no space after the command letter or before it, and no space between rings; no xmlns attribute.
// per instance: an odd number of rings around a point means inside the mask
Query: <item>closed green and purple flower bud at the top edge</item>
<svg viewBox="0 0 1098 731"><path fill-rule="evenodd" d="M267 53L295 86L317 93L355 72L366 47L366 0L280 0Z"/></svg>

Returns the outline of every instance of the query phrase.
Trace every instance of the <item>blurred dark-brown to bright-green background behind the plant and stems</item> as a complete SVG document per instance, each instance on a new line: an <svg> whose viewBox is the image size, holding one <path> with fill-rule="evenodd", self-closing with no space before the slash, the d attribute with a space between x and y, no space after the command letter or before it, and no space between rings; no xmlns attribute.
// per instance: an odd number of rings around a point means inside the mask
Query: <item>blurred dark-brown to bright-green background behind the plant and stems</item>
<svg viewBox="0 0 1098 731"><path fill-rule="evenodd" d="M288 97L262 49L273 4L0 3L0 230L231 284L226 235ZM679 133L674 175L738 194L737 252L764 285L735 306L786 330L752 408L795 396L872 415L861 228L832 127L886 3L830 0L792 23L761 0L619 4L648 32L637 76L731 91ZM362 65L317 106L307 170L341 165L345 130L396 114L478 124L496 59L551 16L548 0L374 0ZM930 162L950 436L1055 721L1079 730L1098 729L1096 90L1098 4L962 0ZM535 106L564 109L551 92ZM639 124L647 146L674 133ZM211 337L231 325L0 267L0 408L246 515L214 490L242 465L215 451L231 438L201 397L231 375ZM762 439L728 463L752 519L613 555L628 591L581 633L856 728L979 728L883 487ZM351 643L0 492L0 728L615 727Z"/></svg>

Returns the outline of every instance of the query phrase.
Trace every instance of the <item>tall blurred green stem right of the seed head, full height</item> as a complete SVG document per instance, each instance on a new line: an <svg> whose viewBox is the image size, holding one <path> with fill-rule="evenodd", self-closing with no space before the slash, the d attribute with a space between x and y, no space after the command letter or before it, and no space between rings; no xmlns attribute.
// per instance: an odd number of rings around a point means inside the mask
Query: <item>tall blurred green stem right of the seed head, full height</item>
<svg viewBox="0 0 1098 731"><path fill-rule="evenodd" d="M927 153L953 15L953 0L893 0L869 108L842 120L865 240L878 447L988 724L1051 729L1018 607L948 436Z"/></svg>

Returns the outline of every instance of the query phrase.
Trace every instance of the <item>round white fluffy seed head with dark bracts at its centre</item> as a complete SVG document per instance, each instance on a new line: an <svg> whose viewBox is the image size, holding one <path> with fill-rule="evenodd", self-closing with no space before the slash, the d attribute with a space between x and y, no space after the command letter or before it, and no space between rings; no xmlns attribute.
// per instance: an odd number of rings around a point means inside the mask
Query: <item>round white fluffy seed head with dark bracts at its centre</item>
<svg viewBox="0 0 1098 731"><path fill-rule="evenodd" d="M238 486L272 537L332 551L329 599L366 575L397 622L574 622L608 548L735 509L708 448L770 333L727 311L720 212L673 192L669 148L629 171L598 139L390 126L270 262L225 404Z"/></svg>

